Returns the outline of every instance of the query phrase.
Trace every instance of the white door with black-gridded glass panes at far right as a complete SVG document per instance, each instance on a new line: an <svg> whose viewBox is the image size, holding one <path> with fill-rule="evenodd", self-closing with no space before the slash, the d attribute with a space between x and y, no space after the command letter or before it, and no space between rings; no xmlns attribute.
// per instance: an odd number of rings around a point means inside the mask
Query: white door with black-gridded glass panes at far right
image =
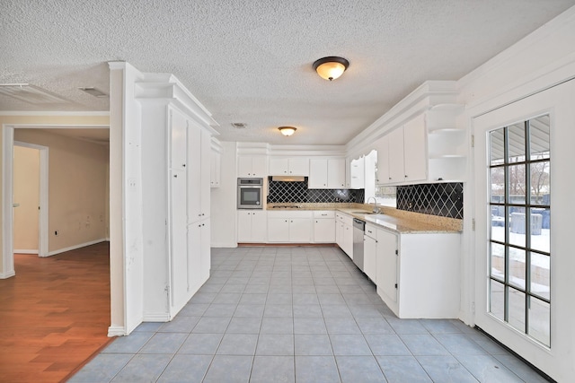
<svg viewBox="0 0 575 383"><path fill-rule="evenodd" d="M575 81L473 118L475 324L553 379L575 373Z"/></svg>

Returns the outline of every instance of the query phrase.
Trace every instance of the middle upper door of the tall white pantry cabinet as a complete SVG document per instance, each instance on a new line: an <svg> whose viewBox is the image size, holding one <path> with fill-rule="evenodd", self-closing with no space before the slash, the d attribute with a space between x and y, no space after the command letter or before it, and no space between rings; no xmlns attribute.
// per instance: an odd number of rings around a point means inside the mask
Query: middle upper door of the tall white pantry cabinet
<svg viewBox="0 0 575 383"><path fill-rule="evenodd" d="M201 127L190 123L188 126L188 223L201 219ZM180 207L181 208L181 207Z"/></svg>

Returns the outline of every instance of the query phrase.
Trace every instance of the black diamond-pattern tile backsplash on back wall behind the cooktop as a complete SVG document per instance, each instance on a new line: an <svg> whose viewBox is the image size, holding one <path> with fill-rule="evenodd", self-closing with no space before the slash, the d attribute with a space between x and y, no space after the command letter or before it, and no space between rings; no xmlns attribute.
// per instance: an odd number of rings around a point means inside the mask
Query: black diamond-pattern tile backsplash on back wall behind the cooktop
<svg viewBox="0 0 575 383"><path fill-rule="evenodd" d="M268 204L363 204L365 196L363 189L308 189L307 177L303 182L273 181L271 177L268 180Z"/></svg>

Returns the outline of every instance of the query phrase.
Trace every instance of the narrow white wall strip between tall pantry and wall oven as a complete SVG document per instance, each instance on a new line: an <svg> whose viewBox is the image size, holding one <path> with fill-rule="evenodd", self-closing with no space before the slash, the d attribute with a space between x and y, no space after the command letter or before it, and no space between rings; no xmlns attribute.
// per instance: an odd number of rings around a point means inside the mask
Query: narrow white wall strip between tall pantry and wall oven
<svg viewBox="0 0 575 383"><path fill-rule="evenodd" d="M211 189L211 246L235 248L236 232L236 149L234 142L222 142L220 187Z"/></svg>

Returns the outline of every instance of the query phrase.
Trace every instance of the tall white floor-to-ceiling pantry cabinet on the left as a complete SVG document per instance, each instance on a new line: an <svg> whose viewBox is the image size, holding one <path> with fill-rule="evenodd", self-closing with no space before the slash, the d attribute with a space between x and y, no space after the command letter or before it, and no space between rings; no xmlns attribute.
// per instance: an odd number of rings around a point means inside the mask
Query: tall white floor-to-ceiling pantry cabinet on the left
<svg viewBox="0 0 575 383"><path fill-rule="evenodd" d="M208 280L213 130L173 99L140 100L144 321L168 321Z"/></svg>

